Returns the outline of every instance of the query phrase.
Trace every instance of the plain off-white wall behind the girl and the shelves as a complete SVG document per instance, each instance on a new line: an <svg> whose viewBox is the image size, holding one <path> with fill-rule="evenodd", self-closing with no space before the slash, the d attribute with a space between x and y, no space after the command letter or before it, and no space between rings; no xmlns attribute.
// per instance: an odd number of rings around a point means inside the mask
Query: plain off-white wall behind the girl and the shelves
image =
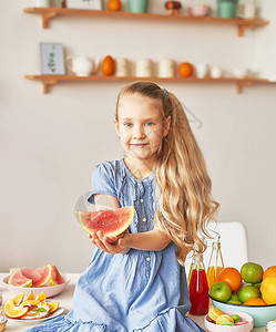
<svg viewBox="0 0 276 332"><path fill-rule="evenodd" d="M163 12L160 1L151 3ZM39 43L61 42L68 55L167 55L228 71L254 63L255 37L246 30L237 38L234 27L216 24L76 17L58 18L42 30L40 17L22 12L30 4L0 2L0 271L55 262L76 272L93 248L74 205L90 189L93 167L122 156L113 115L123 84L64 83L42 94L39 83L23 77L40 73ZM264 39L268 29L262 28ZM218 220L244 222L251 260L275 264L275 86L246 87L239 95L227 84L163 86L202 122L192 126L221 203Z"/></svg>

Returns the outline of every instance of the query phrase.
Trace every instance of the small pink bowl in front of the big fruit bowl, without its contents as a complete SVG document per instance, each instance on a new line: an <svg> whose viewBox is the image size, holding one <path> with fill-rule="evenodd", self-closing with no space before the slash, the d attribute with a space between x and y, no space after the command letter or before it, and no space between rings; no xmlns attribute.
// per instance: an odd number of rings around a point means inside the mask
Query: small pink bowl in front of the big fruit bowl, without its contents
<svg viewBox="0 0 276 332"><path fill-rule="evenodd" d="M243 322L248 322L247 324L244 325L233 325L233 326L227 326L227 325L219 325L212 323L208 315L205 315L204 323L209 332L249 332L253 329L253 318L245 312L239 312L239 311L224 311L227 314L238 314L242 319Z"/></svg>

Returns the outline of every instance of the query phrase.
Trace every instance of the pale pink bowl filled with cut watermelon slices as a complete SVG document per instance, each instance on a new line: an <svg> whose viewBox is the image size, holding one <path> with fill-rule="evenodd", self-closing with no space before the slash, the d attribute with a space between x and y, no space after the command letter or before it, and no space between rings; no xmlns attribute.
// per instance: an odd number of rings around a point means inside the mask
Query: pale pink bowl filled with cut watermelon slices
<svg viewBox="0 0 276 332"><path fill-rule="evenodd" d="M47 264L37 269L13 268L2 282L14 295L32 291L37 297L44 291L47 298L51 298L62 292L70 279L70 276L60 273L55 264Z"/></svg>

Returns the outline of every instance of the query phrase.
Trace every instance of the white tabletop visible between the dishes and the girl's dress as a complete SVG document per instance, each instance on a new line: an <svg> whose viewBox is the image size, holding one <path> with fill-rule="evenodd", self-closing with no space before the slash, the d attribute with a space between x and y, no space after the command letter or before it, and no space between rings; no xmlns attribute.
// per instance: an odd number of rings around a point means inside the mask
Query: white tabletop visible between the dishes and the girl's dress
<svg viewBox="0 0 276 332"><path fill-rule="evenodd" d="M8 273L0 273L0 280L2 280L7 274ZM60 294L54 297L54 300L60 301L62 307L65 309L64 313L68 313L72 309L72 301L73 301L75 283L78 282L81 274L80 273L69 273L69 276L71 277L71 281L69 282L69 284L65 287L65 289ZM9 300L11 298L10 292L7 290L7 288L3 286L2 282L0 284L0 292L3 295L3 302L6 302L7 300ZM204 315L192 315L188 313L187 317L190 317L193 321L195 321L200 326L205 329ZM31 326L34 326L34 324L27 325L24 323L8 320L4 331L21 332L21 331L25 331L25 330L30 329ZM254 328L252 331L253 332L264 332L265 328Z"/></svg>

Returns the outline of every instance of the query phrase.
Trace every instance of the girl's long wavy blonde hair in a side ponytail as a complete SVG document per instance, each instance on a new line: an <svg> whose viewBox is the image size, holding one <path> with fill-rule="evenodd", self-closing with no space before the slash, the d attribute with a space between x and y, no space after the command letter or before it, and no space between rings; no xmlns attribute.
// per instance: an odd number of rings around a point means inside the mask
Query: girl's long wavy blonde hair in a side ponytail
<svg viewBox="0 0 276 332"><path fill-rule="evenodd" d="M200 252L206 249L207 222L219 206L212 198L212 181L203 154L184 108L173 93L155 83L135 82L122 89L117 104L126 94L161 100L164 120L171 116L170 131L162 141L154 165L159 189L154 224L176 245L177 260L184 264L187 253L195 247Z"/></svg>

